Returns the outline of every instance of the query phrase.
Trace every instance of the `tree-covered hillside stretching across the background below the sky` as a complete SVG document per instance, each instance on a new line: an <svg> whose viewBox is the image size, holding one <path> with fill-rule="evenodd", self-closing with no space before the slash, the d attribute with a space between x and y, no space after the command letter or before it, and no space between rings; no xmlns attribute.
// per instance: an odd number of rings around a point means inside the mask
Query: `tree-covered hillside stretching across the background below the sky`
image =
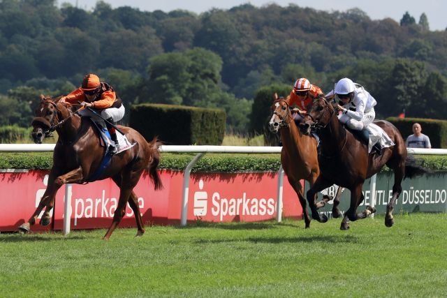
<svg viewBox="0 0 447 298"><path fill-rule="evenodd" d="M98 1L87 11L55 0L0 1L0 125L29 126L38 94L67 94L98 73L126 105L220 107L245 133L253 98L273 83L307 77L325 91L342 77L378 99L378 118L445 119L447 31L402 12L400 23L356 8L296 5L196 15ZM284 96L287 94L283 94Z"/></svg>

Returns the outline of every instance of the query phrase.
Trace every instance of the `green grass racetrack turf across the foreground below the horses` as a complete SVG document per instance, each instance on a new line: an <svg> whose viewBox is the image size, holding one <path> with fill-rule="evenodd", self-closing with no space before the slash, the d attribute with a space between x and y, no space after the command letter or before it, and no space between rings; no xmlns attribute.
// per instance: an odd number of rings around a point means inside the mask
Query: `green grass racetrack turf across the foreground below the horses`
<svg viewBox="0 0 447 298"><path fill-rule="evenodd" d="M0 234L1 297L441 297L447 214Z"/></svg>

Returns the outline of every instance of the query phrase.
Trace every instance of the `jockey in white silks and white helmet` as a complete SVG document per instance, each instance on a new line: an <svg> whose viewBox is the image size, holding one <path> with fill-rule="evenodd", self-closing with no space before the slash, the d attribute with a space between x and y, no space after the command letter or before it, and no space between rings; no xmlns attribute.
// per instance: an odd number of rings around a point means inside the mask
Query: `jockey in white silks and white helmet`
<svg viewBox="0 0 447 298"><path fill-rule="evenodd" d="M326 94L326 98L334 97L334 107L342 112L339 121L349 128L362 131L374 121L376 117L374 106L377 102L360 84L344 77L335 85L335 94L334 90Z"/></svg>

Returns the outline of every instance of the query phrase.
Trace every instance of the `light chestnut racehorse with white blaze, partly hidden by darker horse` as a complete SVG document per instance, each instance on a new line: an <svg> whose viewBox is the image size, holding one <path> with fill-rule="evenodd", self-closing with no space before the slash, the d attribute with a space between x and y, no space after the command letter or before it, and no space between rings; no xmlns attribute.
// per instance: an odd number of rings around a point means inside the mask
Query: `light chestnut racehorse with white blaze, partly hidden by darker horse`
<svg viewBox="0 0 447 298"><path fill-rule="evenodd" d="M277 94L274 94L272 110L273 114L269 122L270 131L272 133L280 131L281 133L283 145L281 149L281 165L286 173L288 183L291 184L300 200L305 228L309 228L311 220L300 180L305 179L309 181L312 187L320 174L316 149L317 142L314 137L303 135L300 132L295 121L293 121L291 110L286 100L279 99ZM334 205L332 206L332 217L334 218L341 216L341 212L337 208L341 190L342 188L339 187L335 195ZM332 200L332 197L328 195L323 196L323 200L318 202L317 208L323 207L330 200Z"/></svg>

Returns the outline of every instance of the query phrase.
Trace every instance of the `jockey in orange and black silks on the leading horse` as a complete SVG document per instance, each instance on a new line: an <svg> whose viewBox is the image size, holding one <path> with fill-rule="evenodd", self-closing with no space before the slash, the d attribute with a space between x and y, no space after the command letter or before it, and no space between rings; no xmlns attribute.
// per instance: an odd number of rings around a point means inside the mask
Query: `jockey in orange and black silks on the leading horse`
<svg viewBox="0 0 447 298"><path fill-rule="evenodd" d="M84 77L80 88L67 96L63 96L61 100L67 103L78 103L80 101L85 107L91 107L98 114L101 114L101 117L107 120L105 121L105 126L113 142L115 142L115 145L110 144L108 148L109 152L112 155L117 153L117 133L112 124L115 124L115 122L124 117L125 109L121 98L117 96L115 90L108 83L100 82L97 75L90 73ZM79 114L101 122L101 119L88 109L80 110Z"/></svg>

